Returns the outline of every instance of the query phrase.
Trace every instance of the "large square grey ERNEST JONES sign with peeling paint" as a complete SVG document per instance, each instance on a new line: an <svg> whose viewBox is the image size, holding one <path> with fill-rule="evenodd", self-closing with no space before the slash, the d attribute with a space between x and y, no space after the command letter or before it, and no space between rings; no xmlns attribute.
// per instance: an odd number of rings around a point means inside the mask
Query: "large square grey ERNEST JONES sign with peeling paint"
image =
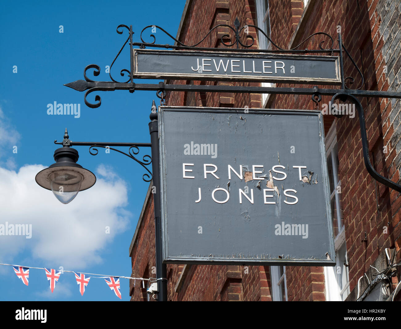
<svg viewBox="0 0 401 329"><path fill-rule="evenodd" d="M164 262L334 266L321 115L160 106Z"/></svg>

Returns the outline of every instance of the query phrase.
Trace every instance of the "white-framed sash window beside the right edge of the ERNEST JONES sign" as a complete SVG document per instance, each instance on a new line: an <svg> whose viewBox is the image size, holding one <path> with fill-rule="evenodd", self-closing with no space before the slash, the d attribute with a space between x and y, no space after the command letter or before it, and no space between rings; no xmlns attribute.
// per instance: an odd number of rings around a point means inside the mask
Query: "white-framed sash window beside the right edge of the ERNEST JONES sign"
<svg viewBox="0 0 401 329"><path fill-rule="evenodd" d="M341 206L341 181L338 174L338 147L336 120L326 136L327 170L330 186L330 204L336 266L324 267L326 300L345 300L350 293L344 218Z"/></svg>

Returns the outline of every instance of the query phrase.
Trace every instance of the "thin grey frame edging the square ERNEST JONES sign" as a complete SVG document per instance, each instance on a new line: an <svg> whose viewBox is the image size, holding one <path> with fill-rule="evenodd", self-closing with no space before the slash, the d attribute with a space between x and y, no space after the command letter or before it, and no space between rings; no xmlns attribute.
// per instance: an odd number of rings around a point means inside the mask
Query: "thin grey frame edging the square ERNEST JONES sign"
<svg viewBox="0 0 401 329"><path fill-rule="evenodd" d="M182 255L172 255L170 253L169 250L169 244L170 244L170 239L175 240L175 236L171 236L171 232L170 232L170 236L168 233L168 220L169 220L169 215L168 215L168 202L170 200L170 204L172 202L172 199L168 198L168 190L172 190L171 186L171 179L170 178L170 185L168 186L168 182L167 182L167 178L166 178L166 174L168 174L168 172L170 173L170 175L172 175L172 168L171 166L168 167L170 169L167 169L167 161L166 161L166 135L165 135L165 129L166 129L166 124L164 121L164 117L168 114L169 112L178 112L180 113L180 118L182 118L182 114L186 113L190 113L190 114L194 114L194 112L202 112L202 113L206 113L206 114L237 114L238 116L241 114L242 116L249 116L249 114L259 114L262 116L266 116L266 115L275 115L275 116L284 116L284 115L292 115L292 116L306 116L306 117L314 117L316 116L316 121L318 124L318 130L319 130L319 136L316 136L316 140L318 140L318 144L319 144L319 149L316 150L317 153L320 153L320 165L321 165L321 170L322 170L322 177L320 177L320 174L318 175L319 177L319 183L321 183L321 188L324 190L324 196L322 196L322 198L324 198L325 200L325 210L326 210L326 215L325 215L325 219L322 219L321 222L319 221L318 223L325 223L326 227L327 227L327 237L324 238L324 241L328 243L328 248L327 250L324 250L324 252L322 252L321 258L318 257L310 257L310 258L301 258L301 257L295 257L295 253L296 251L294 251L293 255L271 255L271 254L264 254L264 255L257 255L257 252L255 251L255 256L254 257L244 257L244 253L242 253L242 257L241 257L241 253L239 255L227 255L226 257L223 257L223 255L217 255L217 254L211 254L210 256L207 255L192 255L192 256L182 256ZM158 109L158 113L159 113L159 118L158 118L158 122L159 122L159 134L160 134L160 141L159 141L159 149L160 149L160 199L161 199L161 208L162 208L162 255L163 255L163 262L166 264L259 264L259 265L291 265L291 266L335 266L336 262L335 262L335 251L334 251L334 240L333 240L333 232L332 232L332 217L331 217L331 207L330 207L330 194L329 194L329 181L328 181L328 173L327 173L327 164L326 164L326 149L325 149L325 145L324 145L324 128L323 128L323 123L322 123L322 114L319 111L312 111L312 110L277 110L277 109L249 109L249 111L247 110L247 114L244 115L244 109L243 108L207 108L207 107L185 107L185 106L159 106ZM241 117L242 117L241 116ZM213 117L215 118L215 116ZM249 118L249 117L248 117ZM216 119L218 120L218 119ZM233 119L233 122L234 119ZM171 145L169 146L171 147ZM178 154L174 153L175 157L178 156ZM182 156L182 159L184 159L184 156ZM185 160L184 160L185 161ZM188 160L188 161L194 161L192 160ZM211 161L211 159L206 159L206 160L201 160L201 161ZM213 163L213 162L210 162ZM193 173L194 174L194 173ZM266 178L267 179L267 178ZM174 181L175 182L175 181ZM242 180L241 180L242 182ZM263 182L263 181L261 181ZM266 181L265 181L266 182ZM299 182L298 182L299 183ZM177 184L179 184L179 182L177 182ZM244 183L246 184L246 183ZM295 184L295 183L294 183ZM303 184L303 183L302 183ZM213 184L212 184L213 185ZM231 184L233 185L233 184ZM290 185L292 186L292 185ZM188 191L189 192L189 191ZM298 190L298 192L301 192L300 190ZM306 192L306 190L302 191L305 194L308 194L310 192ZM188 193L187 193L188 194ZM300 195L298 195L300 196ZM300 196L301 197L301 196ZM212 202L213 203L213 202ZM203 205L205 206L205 205ZM227 206L227 205L222 205ZM304 206L307 208L308 205L304 204ZM311 207L313 206L312 204L310 205ZM323 205L322 205L323 206ZM185 207L185 205L183 206ZM185 211L185 208L183 208L181 211ZM180 210L177 210L178 212L180 212ZM223 209L221 211L224 211ZM222 214L216 214L218 219L222 219L223 217L220 216ZM226 215L227 216L227 215ZM261 216L261 215L259 215ZM174 215L170 215L170 218L173 218ZM241 224L242 222L240 221L241 217L238 214L237 220L239 221L239 223ZM188 213L188 218L190 218L189 213ZM230 217L231 218L231 217ZM172 227L176 227L175 221L177 219L174 218L174 225ZM216 219L217 220L217 219ZM235 218L232 219L232 223L230 226L234 227L234 221ZM276 223L277 224L277 223ZM313 225L316 225L317 223L313 222ZM221 224L223 226L221 226L222 230L227 229L227 226L229 226L228 221L224 221ZM248 224L246 224L248 225ZM255 225L259 225L256 224ZM172 229L172 227L170 227L170 231ZM206 229L206 228L205 228ZM319 225L319 230L321 229L321 226ZM195 234L196 235L196 234ZM197 236L197 235L196 235ZM201 237L201 235L199 235ZM203 237L201 238L203 239ZM217 240L216 240L217 241ZM292 243L295 243L295 240L292 240ZM303 241L303 239L301 239L301 241ZM314 241L314 240L312 240ZM269 242L266 242L269 243ZM273 243L272 241L270 241L270 243ZM286 244L283 242L283 244ZM180 248L184 248L184 246L186 248L188 248L188 246L185 245L184 242L180 243ZM260 247L260 246L259 246ZM296 245L294 245L294 247L296 247ZM295 248L297 251L298 249L301 248ZM294 250L295 250L294 249ZM188 249L186 249L188 250ZM184 250L180 249L180 252L182 253ZM251 251L248 251L251 252ZM312 251L311 251L312 252ZM209 257L208 257L209 256ZM280 258L281 257L281 258Z"/></svg>

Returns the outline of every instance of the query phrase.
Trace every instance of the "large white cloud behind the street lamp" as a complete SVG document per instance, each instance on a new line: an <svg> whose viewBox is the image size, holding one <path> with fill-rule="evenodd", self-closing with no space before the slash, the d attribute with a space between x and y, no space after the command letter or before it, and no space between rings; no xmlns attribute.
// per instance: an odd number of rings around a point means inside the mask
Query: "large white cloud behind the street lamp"
<svg viewBox="0 0 401 329"><path fill-rule="evenodd" d="M126 183L99 166L96 184L62 204L36 184L35 176L44 168L25 165L16 172L0 167L0 224L32 224L31 239L0 235L0 261L12 262L22 252L29 259L28 252L35 261L22 265L79 270L100 263L101 250L126 229L131 217L124 208Z"/></svg>

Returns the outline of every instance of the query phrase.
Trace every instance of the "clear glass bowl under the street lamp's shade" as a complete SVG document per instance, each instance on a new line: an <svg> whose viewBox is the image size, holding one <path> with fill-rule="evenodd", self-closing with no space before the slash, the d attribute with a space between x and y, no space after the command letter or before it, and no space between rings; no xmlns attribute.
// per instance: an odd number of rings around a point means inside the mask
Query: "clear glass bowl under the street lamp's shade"
<svg viewBox="0 0 401 329"><path fill-rule="evenodd" d="M71 202L79 192L83 177L73 170L58 170L49 175L55 197L64 204Z"/></svg>

